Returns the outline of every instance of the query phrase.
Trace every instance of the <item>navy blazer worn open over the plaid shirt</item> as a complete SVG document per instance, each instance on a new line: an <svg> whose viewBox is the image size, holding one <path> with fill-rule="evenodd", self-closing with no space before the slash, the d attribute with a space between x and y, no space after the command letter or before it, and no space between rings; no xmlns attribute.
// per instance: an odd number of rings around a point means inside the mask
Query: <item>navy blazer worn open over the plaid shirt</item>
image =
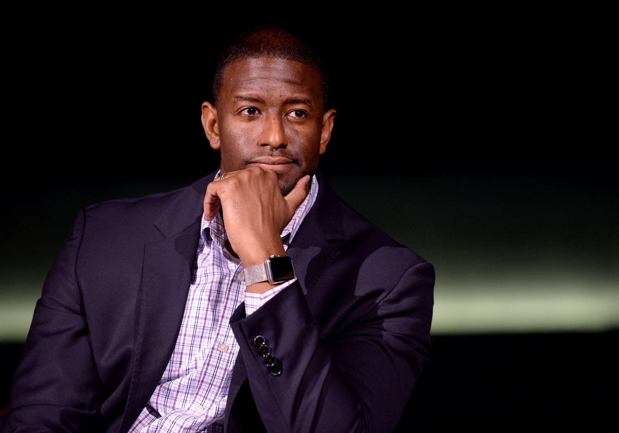
<svg viewBox="0 0 619 433"><path fill-rule="evenodd" d="M240 351L227 432L392 432L428 361L433 266L316 175L287 250L298 281L230 318ZM128 431L175 348L214 176L79 213L37 301L4 431Z"/></svg>

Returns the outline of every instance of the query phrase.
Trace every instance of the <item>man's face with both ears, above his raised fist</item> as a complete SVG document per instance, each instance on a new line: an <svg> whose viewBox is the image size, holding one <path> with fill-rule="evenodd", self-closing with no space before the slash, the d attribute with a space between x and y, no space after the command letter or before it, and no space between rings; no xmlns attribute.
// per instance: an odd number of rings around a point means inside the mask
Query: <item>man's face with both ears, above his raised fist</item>
<svg viewBox="0 0 619 433"><path fill-rule="evenodd" d="M322 112L319 72L295 61L256 58L228 65L222 81L217 107L202 105L222 173L252 165L275 170L287 195L316 172L331 137L335 111Z"/></svg>

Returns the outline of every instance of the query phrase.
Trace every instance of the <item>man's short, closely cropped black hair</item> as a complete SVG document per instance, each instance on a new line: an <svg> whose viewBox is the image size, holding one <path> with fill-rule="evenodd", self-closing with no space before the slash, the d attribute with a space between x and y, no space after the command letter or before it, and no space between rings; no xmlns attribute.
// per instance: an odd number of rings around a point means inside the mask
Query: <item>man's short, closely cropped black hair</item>
<svg viewBox="0 0 619 433"><path fill-rule="evenodd" d="M321 75L322 112L327 109L329 98L329 74L318 55L318 48L289 27L281 24L254 25L240 33L232 44L225 48L217 62L213 80L213 103L222 88L223 70L231 63L252 58L279 58L297 61L316 69Z"/></svg>

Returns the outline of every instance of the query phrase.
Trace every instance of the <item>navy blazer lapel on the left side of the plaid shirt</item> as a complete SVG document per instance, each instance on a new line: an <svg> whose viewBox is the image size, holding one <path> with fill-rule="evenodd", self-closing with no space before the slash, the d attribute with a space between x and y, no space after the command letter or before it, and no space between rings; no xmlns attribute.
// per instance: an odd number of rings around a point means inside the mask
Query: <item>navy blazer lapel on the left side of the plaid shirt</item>
<svg viewBox="0 0 619 433"><path fill-rule="evenodd" d="M162 237L145 245L136 306L136 343L121 432L137 419L155 391L174 351L200 236L202 201L215 172L175 199L155 222Z"/></svg>

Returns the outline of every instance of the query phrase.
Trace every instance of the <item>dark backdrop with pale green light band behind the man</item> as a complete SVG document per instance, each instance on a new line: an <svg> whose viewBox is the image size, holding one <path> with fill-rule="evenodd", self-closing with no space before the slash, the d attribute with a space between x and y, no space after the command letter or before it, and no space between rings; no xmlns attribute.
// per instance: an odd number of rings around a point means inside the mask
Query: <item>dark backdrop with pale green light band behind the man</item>
<svg viewBox="0 0 619 433"><path fill-rule="evenodd" d="M603 431L619 328L607 27L456 12L287 20L331 73L321 170L436 268L433 354L399 431ZM253 24L93 16L20 21L7 39L0 299L26 323L79 209L218 167L200 105L222 42ZM540 293L548 316L509 310ZM454 315L470 299L494 304ZM0 408L27 331L9 322Z"/></svg>

